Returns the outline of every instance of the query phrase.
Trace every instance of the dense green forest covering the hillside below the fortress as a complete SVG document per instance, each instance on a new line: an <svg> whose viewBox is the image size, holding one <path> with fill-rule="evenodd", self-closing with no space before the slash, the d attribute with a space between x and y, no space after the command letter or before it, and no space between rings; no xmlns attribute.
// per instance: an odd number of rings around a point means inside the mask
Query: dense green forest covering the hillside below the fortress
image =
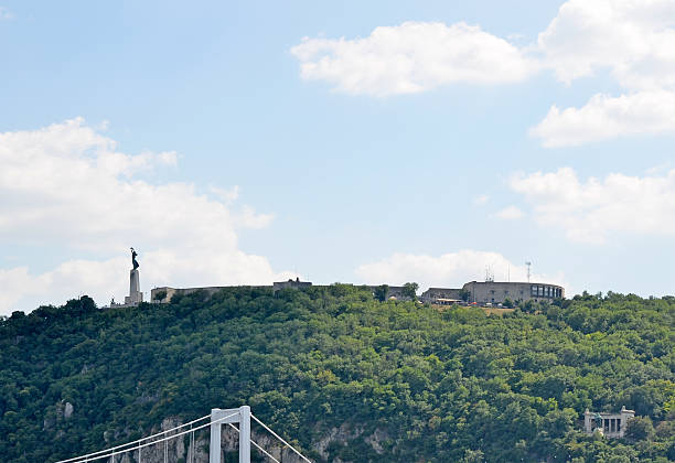
<svg viewBox="0 0 675 463"><path fill-rule="evenodd" d="M503 315L344 284L113 310L84 297L0 320L0 461L240 405L317 461L674 461L674 317L675 298L617 293ZM622 406L625 439L582 432L587 408Z"/></svg>

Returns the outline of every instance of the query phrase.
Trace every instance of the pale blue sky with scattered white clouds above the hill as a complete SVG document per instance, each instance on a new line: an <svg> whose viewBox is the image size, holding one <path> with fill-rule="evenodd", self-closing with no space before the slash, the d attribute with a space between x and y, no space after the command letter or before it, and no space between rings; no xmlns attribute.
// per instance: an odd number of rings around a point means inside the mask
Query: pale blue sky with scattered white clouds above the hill
<svg viewBox="0 0 675 463"><path fill-rule="evenodd" d="M154 287L673 294L675 0L0 0L0 315Z"/></svg>

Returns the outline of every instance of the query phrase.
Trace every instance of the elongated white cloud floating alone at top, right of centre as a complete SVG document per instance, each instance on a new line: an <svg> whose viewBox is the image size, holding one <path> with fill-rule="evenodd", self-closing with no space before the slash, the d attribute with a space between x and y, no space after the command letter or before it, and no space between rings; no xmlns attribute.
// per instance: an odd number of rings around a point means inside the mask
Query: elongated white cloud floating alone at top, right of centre
<svg viewBox="0 0 675 463"><path fill-rule="evenodd" d="M365 39L308 39L291 49L304 79L346 94L415 94L454 83L521 82L534 61L478 25L405 22Z"/></svg>

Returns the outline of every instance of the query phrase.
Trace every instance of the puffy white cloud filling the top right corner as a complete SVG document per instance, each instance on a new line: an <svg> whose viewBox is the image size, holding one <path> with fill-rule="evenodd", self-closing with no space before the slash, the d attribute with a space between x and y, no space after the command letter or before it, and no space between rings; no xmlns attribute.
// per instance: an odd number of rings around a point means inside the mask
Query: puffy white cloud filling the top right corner
<svg viewBox="0 0 675 463"><path fill-rule="evenodd" d="M609 69L625 88L672 87L674 24L673 0L569 0L537 45L566 83Z"/></svg>

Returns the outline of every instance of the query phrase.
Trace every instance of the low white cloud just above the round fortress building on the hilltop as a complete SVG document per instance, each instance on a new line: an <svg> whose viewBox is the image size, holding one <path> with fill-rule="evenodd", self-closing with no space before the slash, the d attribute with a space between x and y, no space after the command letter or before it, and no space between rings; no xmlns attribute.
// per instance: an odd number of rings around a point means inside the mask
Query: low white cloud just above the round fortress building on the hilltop
<svg viewBox="0 0 675 463"><path fill-rule="evenodd" d="M404 284L416 281L421 289L428 287L461 288L468 281L483 281L490 269L496 281L527 281L527 267L514 265L499 252L463 249L442 256L395 254L378 262L364 263L356 274L368 284ZM566 286L558 274L532 276L533 281Z"/></svg>

